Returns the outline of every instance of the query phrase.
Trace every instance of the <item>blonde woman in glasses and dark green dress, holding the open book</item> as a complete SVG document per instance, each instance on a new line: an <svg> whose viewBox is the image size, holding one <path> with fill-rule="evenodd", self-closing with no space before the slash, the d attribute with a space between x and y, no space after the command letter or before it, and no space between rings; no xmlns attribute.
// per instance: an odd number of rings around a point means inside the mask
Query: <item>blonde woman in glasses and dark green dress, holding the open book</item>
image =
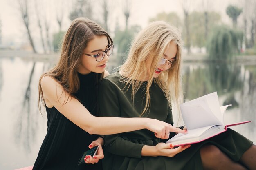
<svg viewBox="0 0 256 170"><path fill-rule="evenodd" d="M166 22L151 23L135 38L120 71L101 81L101 115L149 117L173 124L171 108L180 104L182 95L181 62L178 30ZM256 167L256 146L230 129L200 144L177 148L148 130L106 135L105 141L104 170L253 170Z"/></svg>

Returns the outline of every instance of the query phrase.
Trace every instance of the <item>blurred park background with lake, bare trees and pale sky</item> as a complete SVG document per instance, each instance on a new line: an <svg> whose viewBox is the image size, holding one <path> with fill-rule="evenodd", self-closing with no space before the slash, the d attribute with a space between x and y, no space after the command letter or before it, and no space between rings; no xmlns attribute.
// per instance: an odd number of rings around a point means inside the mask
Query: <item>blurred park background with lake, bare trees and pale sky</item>
<svg viewBox="0 0 256 170"><path fill-rule="evenodd" d="M220 105L233 104L225 121L251 120L232 128L256 141L256 0L1 0L0 170L33 165L47 130L38 79L56 64L77 16L95 20L113 38L110 73L150 21L177 26L184 101L217 91Z"/></svg>

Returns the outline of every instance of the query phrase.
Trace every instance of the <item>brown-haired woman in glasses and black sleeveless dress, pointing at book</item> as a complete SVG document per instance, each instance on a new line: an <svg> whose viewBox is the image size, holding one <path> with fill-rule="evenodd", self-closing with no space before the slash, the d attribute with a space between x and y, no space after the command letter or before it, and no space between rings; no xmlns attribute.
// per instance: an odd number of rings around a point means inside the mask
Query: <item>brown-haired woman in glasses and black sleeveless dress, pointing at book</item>
<svg viewBox="0 0 256 170"><path fill-rule="evenodd" d="M145 128L166 139L169 131L185 133L155 119L97 117L99 82L108 75L105 67L113 48L97 23L77 18L70 25L58 64L40 78L39 102L46 108L48 128L33 170L101 170L104 141L96 134ZM78 166L82 153L96 145L96 156L86 155Z"/></svg>

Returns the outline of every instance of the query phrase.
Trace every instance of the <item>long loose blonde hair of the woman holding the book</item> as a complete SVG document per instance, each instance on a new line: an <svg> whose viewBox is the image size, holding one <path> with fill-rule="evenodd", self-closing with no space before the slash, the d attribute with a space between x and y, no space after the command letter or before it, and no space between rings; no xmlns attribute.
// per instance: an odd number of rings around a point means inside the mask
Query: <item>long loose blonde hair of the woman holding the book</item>
<svg viewBox="0 0 256 170"><path fill-rule="evenodd" d="M172 64L171 69L163 71L159 77L153 78L157 63L163 57L171 41L177 45L176 62ZM137 80L138 77L146 75L146 61L150 57L153 57L153 60L146 86L146 105L140 117L150 109L149 89L153 81L162 89L171 108L173 105L179 106L182 102L182 39L180 31L175 26L171 26L164 21L151 22L134 39L127 60L120 67L122 76L126 77L123 80L126 82L126 86L132 86L132 99L134 99L135 93L142 85L142 82Z"/></svg>

